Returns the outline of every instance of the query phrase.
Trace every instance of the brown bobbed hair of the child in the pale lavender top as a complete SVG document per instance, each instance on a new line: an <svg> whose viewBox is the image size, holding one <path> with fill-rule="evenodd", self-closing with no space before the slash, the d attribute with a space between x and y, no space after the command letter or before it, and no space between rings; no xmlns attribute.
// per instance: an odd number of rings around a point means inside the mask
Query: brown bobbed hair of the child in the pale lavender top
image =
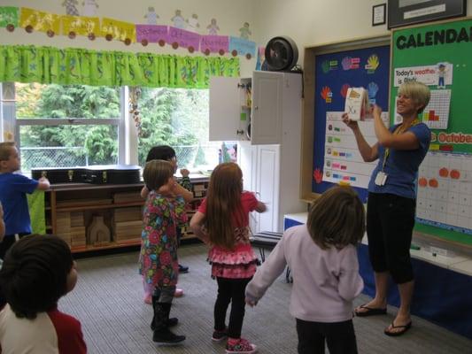
<svg viewBox="0 0 472 354"><path fill-rule="evenodd" d="M351 187L333 187L313 202L306 226L323 250L356 245L366 230L364 206Z"/></svg>

